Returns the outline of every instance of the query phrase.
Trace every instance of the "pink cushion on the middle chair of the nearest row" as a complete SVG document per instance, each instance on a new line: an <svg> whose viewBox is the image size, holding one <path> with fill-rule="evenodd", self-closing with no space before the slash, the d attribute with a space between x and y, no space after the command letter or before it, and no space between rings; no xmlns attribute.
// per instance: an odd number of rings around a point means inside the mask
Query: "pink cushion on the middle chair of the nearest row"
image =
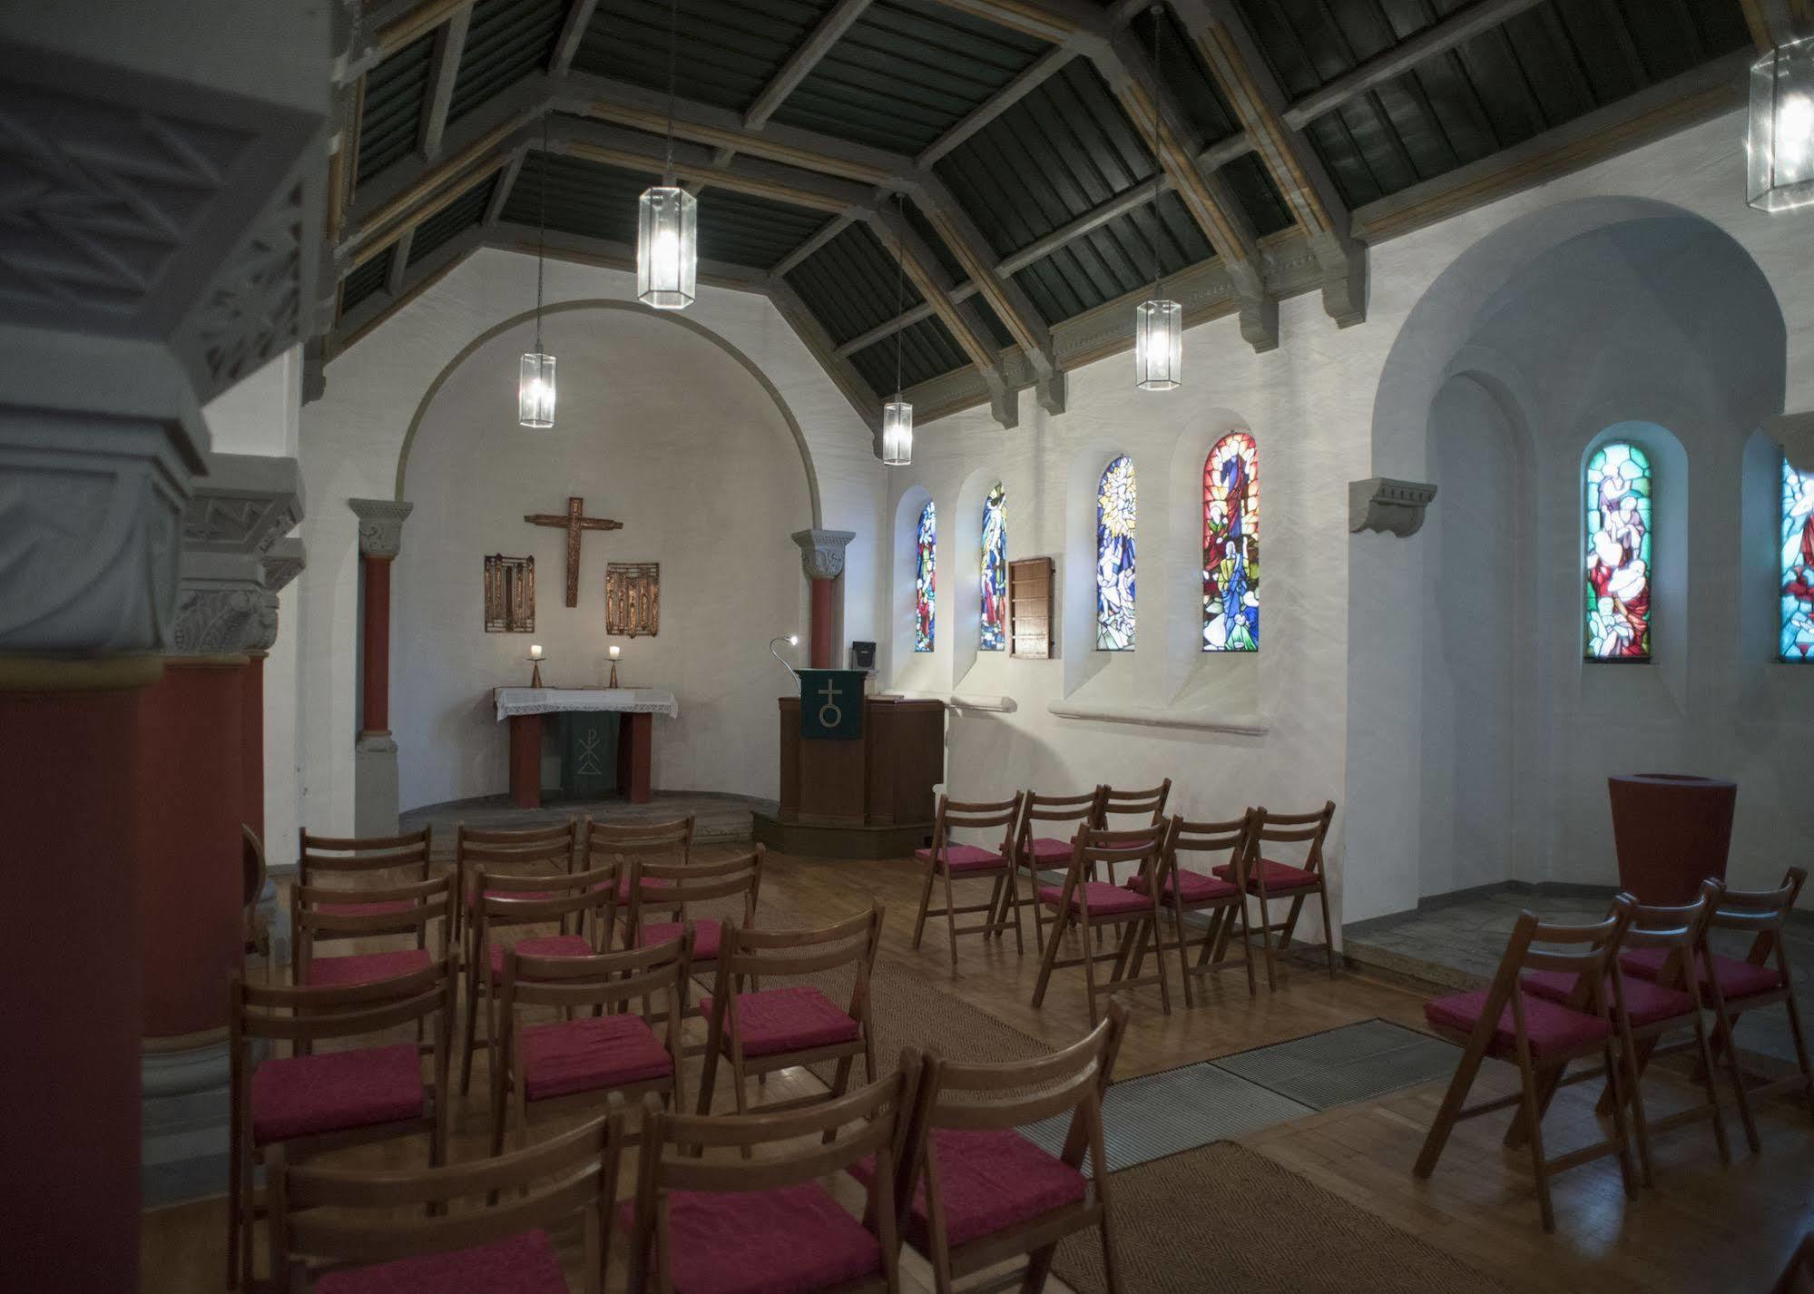
<svg viewBox="0 0 1814 1294"><path fill-rule="evenodd" d="M668 1236L675 1294L809 1294L882 1270L882 1245L816 1181L673 1191Z"/></svg>

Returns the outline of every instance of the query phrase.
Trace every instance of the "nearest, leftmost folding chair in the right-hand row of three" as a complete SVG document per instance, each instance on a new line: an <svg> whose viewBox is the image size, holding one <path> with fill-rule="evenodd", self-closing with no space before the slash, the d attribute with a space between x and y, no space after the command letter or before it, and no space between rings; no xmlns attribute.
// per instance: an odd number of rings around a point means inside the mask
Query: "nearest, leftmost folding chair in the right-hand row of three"
<svg viewBox="0 0 1814 1294"><path fill-rule="evenodd" d="M1620 895L1613 900L1613 915L1593 926L1549 926L1533 913L1522 913L1489 987L1451 993L1424 1004L1424 1018L1439 1034L1462 1045L1462 1058L1417 1156L1419 1178L1428 1178L1435 1171L1457 1122L1518 1107L1506 1132L1506 1145L1529 1142L1536 1207L1546 1232L1556 1229L1555 1209L1549 1203L1549 1176L1564 1169L1616 1154L1625 1194L1636 1198L1638 1178L1631 1158L1631 1131L1625 1125L1625 1105L1634 1087L1631 1053L1616 1045L1618 1027L1613 1018L1620 978L1618 947L1631 907L1631 900ZM1536 944L1560 947L1535 947ZM1531 993L1520 980L1524 971L1575 976L1576 985L1569 1002L1558 1004ZM1600 1054L1607 1083L1613 1087L1614 1132L1578 1151L1546 1158L1544 1111L1562 1083L1569 1062L1595 1053ZM1468 1089L1473 1087L1480 1062L1487 1056L1518 1067L1518 1093L1464 1107Z"/></svg>

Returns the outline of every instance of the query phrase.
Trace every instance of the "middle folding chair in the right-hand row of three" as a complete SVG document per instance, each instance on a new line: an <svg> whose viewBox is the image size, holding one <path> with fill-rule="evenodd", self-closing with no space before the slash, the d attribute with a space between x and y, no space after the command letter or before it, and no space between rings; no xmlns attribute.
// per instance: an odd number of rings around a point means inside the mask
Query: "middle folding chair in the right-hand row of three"
<svg viewBox="0 0 1814 1294"><path fill-rule="evenodd" d="M1696 1120L1712 1122L1712 1140L1720 1149L1720 1162L1731 1163L1732 1152L1725 1142L1725 1118L1720 1113L1720 1089L1714 1083L1712 1051L1707 1044L1707 1024L1702 1018L1702 995L1696 976L1689 973L1694 949L1702 947L1707 936L1707 920L1712 917L1716 891L1712 882L1702 886L1702 895L1692 904L1678 907L1642 906L1631 898L1631 924L1620 940L1620 962L1633 955L1662 953L1654 962L1656 978L1645 980L1634 975L1607 978L1607 993L1613 995L1613 1016L1620 1025L1620 1045L1631 1056L1631 1114L1638 1134L1638 1165L1643 1169L1643 1185L1654 1185L1651 1172L1651 1132L1665 1132ZM1524 987L1535 996L1567 1005L1578 996L1576 976L1560 971L1531 971L1524 976ZM1694 1034L1685 1044L1700 1053L1696 1069L1707 1100L1667 1118L1649 1120L1643 1109L1643 1069L1656 1053L1656 1044L1663 1034L1685 1029ZM1674 1051L1674 1047L1671 1047ZM1600 1071L1584 1069L1569 1073L1564 1083L1580 1083L1598 1078ZM1607 1083L1600 1094L1596 1114L1613 1113L1613 1085Z"/></svg>

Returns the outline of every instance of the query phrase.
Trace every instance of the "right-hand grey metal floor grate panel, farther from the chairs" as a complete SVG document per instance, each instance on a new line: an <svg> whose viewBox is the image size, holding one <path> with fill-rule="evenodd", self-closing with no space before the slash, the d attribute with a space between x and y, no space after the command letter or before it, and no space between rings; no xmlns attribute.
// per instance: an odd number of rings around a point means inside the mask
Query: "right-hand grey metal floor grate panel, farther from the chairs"
<svg viewBox="0 0 1814 1294"><path fill-rule="evenodd" d="M1362 1020L1210 1062L1312 1109L1364 1102L1455 1073L1460 1047L1390 1020Z"/></svg>

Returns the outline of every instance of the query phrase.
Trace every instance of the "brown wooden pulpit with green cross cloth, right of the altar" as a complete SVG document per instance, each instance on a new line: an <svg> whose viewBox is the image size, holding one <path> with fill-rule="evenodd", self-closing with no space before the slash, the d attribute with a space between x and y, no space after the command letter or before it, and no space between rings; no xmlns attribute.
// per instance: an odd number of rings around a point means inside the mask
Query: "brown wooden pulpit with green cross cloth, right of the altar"
<svg viewBox="0 0 1814 1294"><path fill-rule="evenodd" d="M945 702L865 697L860 740L805 740L800 699L782 697L780 757L780 813L769 838L758 820L758 838L822 857L911 853L931 833L945 777Z"/></svg>

